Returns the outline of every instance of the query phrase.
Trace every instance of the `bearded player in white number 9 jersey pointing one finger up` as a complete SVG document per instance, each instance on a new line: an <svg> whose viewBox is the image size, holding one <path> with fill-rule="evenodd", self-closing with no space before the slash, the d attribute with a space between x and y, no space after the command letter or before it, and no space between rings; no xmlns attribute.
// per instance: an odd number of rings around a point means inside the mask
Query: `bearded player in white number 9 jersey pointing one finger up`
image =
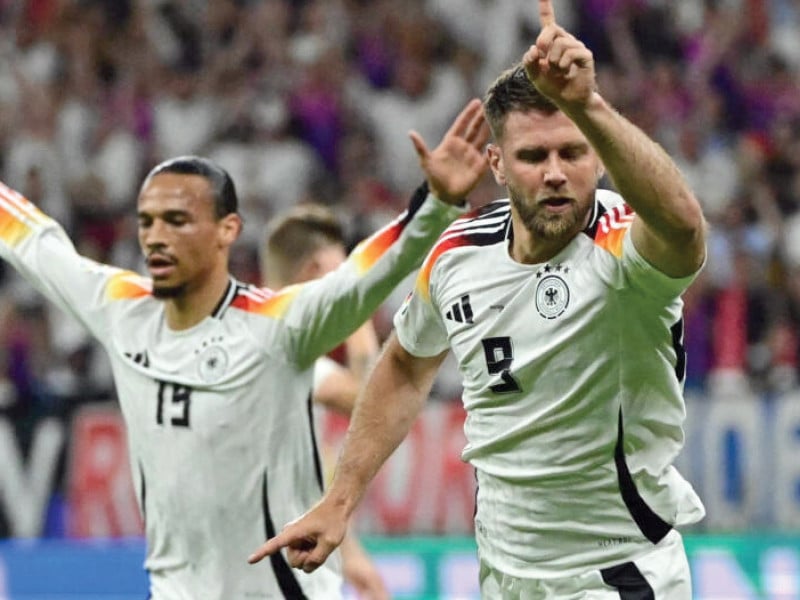
<svg viewBox="0 0 800 600"><path fill-rule="evenodd" d="M452 351L478 480L480 589L496 598L689 600L676 527L704 514L683 443L681 293L700 206L596 88L591 52L542 30L484 101L509 199L454 223L395 316L323 499L259 547L314 572ZM619 191L598 190L604 170Z"/></svg>

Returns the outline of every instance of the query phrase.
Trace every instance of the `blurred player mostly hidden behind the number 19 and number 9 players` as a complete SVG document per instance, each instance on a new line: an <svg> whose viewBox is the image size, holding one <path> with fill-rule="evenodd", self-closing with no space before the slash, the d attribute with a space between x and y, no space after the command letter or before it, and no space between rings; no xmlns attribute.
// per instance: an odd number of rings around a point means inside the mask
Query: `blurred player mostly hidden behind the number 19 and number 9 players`
<svg viewBox="0 0 800 600"><path fill-rule="evenodd" d="M344 229L328 207L300 204L267 223L260 258L262 281L270 289L318 279L347 259ZM345 364L329 356L320 356L314 365L314 383L309 395L315 403L317 425L323 417L320 408L350 416L367 371L378 355L378 335L372 320L368 319L353 332L342 349ZM319 450L327 482L338 449L325 448L323 441ZM341 550L345 581L360 597L388 599L389 593L378 569L351 532L345 536Z"/></svg>

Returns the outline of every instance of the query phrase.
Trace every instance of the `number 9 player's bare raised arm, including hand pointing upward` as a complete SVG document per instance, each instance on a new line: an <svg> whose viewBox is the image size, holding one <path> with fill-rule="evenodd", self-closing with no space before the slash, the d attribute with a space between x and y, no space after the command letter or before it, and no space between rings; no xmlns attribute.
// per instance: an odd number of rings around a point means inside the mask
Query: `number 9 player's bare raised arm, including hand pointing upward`
<svg viewBox="0 0 800 600"><path fill-rule="evenodd" d="M672 277L697 271L705 258L700 204L667 153L597 92L592 53L558 26L551 0L539 0L542 31L523 57L528 77L580 128L636 211L636 249Z"/></svg>

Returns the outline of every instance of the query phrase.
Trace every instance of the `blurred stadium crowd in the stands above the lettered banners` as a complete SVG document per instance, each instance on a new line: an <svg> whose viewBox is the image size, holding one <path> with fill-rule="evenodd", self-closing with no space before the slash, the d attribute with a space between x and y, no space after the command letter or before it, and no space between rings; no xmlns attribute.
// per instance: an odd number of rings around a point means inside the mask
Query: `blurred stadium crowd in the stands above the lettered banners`
<svg viewBox="0 0 800 600"><path fill-rule="evenodd" d="M800 0L554 4L709 220L685 297L687 387L794 388ZM530 0L0 0L0 179L83 254L139 270L138 182L167 157L209 156L238 186L235 271L256 282L278 211L322 202L356 240L402 208L421 180L408 130L439 139L537 29ZM487 176L471 202L497 195ZM376 316L382 335L408 289ZM25 424L112 389L86 333L0 265L0 414L23 444Z"/></svg>

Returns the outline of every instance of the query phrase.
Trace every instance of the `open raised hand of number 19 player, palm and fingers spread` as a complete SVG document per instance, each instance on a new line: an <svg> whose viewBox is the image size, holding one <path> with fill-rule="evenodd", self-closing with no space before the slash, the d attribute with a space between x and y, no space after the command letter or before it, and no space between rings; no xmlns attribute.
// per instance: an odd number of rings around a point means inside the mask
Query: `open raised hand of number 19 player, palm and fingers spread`
<svg viewBox="0 0 800 600"><path fill-rule="evenodd" d="M489 141L489 127L481 101L477 98L464 107L433 150L428 149L416 131L410 132L409 137L428 187L437 198L448 204L463 202L489 166L484 151Z"/></svg>

